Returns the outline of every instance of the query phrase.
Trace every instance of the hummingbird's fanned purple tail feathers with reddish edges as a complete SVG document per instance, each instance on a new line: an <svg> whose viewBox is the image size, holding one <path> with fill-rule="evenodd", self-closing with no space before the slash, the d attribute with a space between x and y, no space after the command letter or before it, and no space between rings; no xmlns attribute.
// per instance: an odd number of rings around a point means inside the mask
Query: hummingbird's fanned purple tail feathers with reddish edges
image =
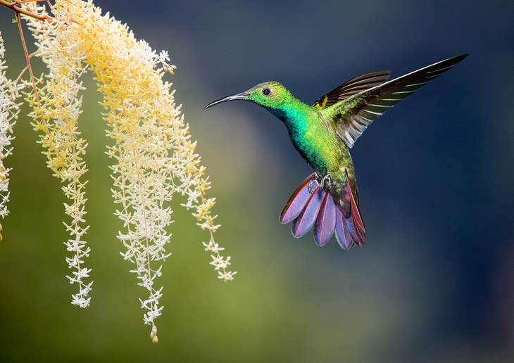
<svg viewBox="0 0 514 363"><path fill-rule="evenodd" d="M364 223L348 179L346 186L350 212L342 210L339 200L334 200L328 191L320 189L315 173L311 174L289 198L280 214L280 223L294 219L292 232L296 238L306 234L314 225L314 239L319 246L325 246L334 231L337 242L345 250L353 245L363 245Z"/></svg>

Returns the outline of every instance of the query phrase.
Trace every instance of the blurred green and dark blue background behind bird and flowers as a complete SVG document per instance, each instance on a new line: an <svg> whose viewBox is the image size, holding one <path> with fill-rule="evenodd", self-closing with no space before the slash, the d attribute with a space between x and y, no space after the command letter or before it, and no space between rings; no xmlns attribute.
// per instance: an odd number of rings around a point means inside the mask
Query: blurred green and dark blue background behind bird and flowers
<svg viewBox="0 0 514 363"><path fill-rule="evenodd" d="M92 306L70 305L64 198L20 117L0 243L2 362L514 361L513 1L94 3L177 65L170 80L218 198L217 240L239 273L216 279L205 235L177 206L159 343L150 342L144 291L115 238L106 127L89 78ZM16 77L24 59L12 17L0 8ZM361 73L395 77L460 53L471 55L353 148L363 248L319 248L278 222L311 172L281 122L243 102L203 110L267 80L312 103Z"/></svg>

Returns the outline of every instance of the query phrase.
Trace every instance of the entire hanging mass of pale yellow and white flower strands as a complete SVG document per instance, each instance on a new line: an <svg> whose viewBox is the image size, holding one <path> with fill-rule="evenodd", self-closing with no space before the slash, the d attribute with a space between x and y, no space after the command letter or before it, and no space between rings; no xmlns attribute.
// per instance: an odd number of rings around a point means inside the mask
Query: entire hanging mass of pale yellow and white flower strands
<svg viewBox="0 0 514 363"><path fill-rule="evenodd" d="M154 320L163 309L159 304L163 288L156 285L156 278L161 276L162 261L170 256L167 245L171 234L167 227L173 222L173 196L185 196L187 201L182 205L192 209L199 227L208 231L208 242L203 245L211 253L218 277L229 281L235 274L229 269L230 256L220 254L223 248L213 238L219 227L216 216L211 214L215 199L205 196L210 182L195 152L196 142L175 104L175 91L163 81L165 74L173 75L175 66L168 63L167 52L156 53L146 42L135 39L126 25L108 13L101 15L101 8L92 1L56 0L50 13L44 6L25 1L16 9L17 14L25 13L23 18L38 46L35 56L47 68L42 79L32 79L34 87L26 98L33 107L32 125L40 134L46 163L63 182L62 189L69 200L65 204L65 213L70 217L65 223L70 234L65 245L71 254L66 260L72 271L68 279L79 286L72 303L89 306L92 289L91 270L84 267L90 253L84 241L89 228L84 208L87 167L83 157L87 143L77 129L80 92L84 89L80 77L91 70L104 97L102 115L108 125L106 134L112 140L107 153L113 159L112 193L119 205L115 215L123 221L118 233L123 243L121 255L134 264L131 272L137 275L139 286L148 291L140 302L144 322L152 325L151 338L157 341ZM0 80L4 89L12 92L15 88L9 81ZM11 136L4 136L4 129L10 132L16 115L13 96L6 99L9 101L2 101L0 109L1 151L11 140ZM8 111L4 112L4 108ZM7 189L1 184L2 170L6 171L0 165L0 192ZM0 208L8 199L8 193L4 195Z"/></svg>

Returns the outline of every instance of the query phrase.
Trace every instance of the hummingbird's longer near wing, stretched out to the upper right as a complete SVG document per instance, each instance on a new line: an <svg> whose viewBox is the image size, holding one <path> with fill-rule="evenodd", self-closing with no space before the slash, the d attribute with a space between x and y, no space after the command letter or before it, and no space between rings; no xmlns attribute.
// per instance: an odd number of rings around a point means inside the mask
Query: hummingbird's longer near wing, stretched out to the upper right
<svg viewBox="0 0 514 363"><path fill-rule="evenodd" d="M416 89L427 84L430 80L439 77L467 56L468 54L463 54L441 60L438 63L344 98L343 101L339 101L324 110L327 113L326 119L336 122L337 135L346 146L351 148L358 136L361 136L375 118L399 103L406 96L413 94Z"/></svg>

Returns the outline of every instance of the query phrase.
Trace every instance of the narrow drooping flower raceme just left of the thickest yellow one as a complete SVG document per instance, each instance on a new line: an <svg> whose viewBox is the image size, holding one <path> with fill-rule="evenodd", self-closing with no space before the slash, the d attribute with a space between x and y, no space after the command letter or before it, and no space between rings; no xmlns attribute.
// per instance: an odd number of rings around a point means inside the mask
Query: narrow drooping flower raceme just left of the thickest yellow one
<svg viewBox="0 0 514 363"><path fill-rule="evenodd" d="M72 269L71 276L67 277L70 284L79 286L72 303L88 307L92 281L86 281L91 269L84 267L84 258L89 256L90 250L83 239L89 226L84 219L87 181L82 180L87 172L82 159L87 144L77 129L82 106L79 92L84 89L80 76L86 70L84 51L75 43L73 32L64 31L62 24L33 22L31 30L37 39L39 56L48 68L45 79L41 80L44 85L29 96L34 107L30 113L34 120L32 125L40 132L39 143L44 148L46 165L65 184L62 189L70 200L64 205L65 213L71 217L71 222L65 223L70 234L65 245L72 254L66 258Z"/></svg>

